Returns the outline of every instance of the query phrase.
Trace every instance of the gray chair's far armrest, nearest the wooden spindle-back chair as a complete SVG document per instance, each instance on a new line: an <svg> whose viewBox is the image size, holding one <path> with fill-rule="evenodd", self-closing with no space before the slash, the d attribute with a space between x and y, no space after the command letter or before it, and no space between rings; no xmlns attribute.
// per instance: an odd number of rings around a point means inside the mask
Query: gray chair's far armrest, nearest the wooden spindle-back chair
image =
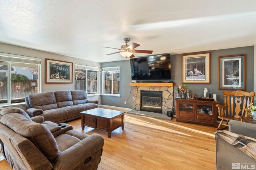
<svg viewBox="0 0 256 170"><path fill-rule="evenodd" d="M242 121L231 120L228 123L228 131L256 139L256 125Z"/></svg>

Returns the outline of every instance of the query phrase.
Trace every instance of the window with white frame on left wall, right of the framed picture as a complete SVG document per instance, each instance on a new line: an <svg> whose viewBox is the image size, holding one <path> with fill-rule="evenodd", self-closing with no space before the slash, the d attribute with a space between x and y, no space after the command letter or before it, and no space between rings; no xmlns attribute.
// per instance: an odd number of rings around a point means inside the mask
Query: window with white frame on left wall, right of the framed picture
<svg viewBox="0 0 256 170"><path fill-rule="evenodd" d="M87 94L98 94L98 74L100 68L75 64L75 90L85 90Z"/></svg>

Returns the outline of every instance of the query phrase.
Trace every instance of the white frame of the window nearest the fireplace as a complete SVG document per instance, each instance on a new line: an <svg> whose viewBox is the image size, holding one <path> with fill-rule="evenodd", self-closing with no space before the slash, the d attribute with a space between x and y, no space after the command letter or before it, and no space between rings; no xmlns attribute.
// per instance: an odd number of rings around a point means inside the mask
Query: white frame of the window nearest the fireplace
<svg viewBox="0 0 256 170"><path fill-rule="evenodd" d="M104 70L104 69L110 69L110 70ZM113 69L113 70L112 70ZM104 67L102 68L102 96L117 96L120 97L120 80L119 80L119 94L113 94L113 72L114 71L119 71L120 75L120 66L113 66L113 67ZM105 94L105 72L111 71L112 75L112 81L111 81L111 94ZM120 77L120 76L119 76Z"/></svg>

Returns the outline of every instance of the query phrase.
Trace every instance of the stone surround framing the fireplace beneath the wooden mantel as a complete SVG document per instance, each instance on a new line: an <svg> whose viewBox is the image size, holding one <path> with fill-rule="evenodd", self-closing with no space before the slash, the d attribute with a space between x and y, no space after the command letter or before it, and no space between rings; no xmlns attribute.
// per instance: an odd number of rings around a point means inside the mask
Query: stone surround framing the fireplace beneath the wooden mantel
<svg viewBox="0 0 256 170"><path fill-rule="evenodd" d="M162 110L163 114L167 114L167 111L172 111L173 107L173 87L160 87L160 86L133 86L132 89L132 109L140 111L140 91L149 90L149 91L162 91L163 92L163 101L162 101Z"/></svg>

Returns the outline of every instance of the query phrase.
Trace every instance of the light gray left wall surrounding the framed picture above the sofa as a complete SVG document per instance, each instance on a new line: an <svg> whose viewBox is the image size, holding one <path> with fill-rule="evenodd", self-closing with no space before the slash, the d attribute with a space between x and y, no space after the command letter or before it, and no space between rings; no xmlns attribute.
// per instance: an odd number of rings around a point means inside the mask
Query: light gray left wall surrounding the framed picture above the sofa
<svg viewBox="0 0 256 170"><path fill-rule="evenodd" d="M96 66L100 68L100 63L78 59L74 57L68 57L64 55L58 55L54 53L48 53L45 51L39 51L24 47L19 47L15 45L10 44L4 44L0 43L0 52L2 53L10 53L10 54L16 54L16 55L24 55L24 56L30 56L30 57L37 57L41 58L42 60L42 92L55 92L55 91L61 91L61 90L74 90L75 84L74 84L74 65L75 64L83 64L88 66ZM68 61L73 63L73 83L69 84L46 84L45 83L45 59L56 59L61 61ZM98 96L89 96L89 99L95 99L100 101L100 95Z"/></svg>

